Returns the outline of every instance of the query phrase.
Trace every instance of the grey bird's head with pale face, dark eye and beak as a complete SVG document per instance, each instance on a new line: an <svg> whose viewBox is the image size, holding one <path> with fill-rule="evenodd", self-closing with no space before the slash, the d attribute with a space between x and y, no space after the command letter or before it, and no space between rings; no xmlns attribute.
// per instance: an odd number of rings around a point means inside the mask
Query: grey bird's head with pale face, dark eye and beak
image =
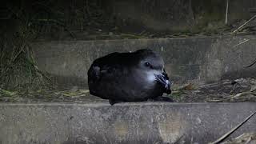
<svg viewBox="0 0 256 144"><path fill-rule="evenodd" d="M135 51L138 55L138 68L145 74L148 82L158 82L164 86L166 93L170 94L170 81L164 70L164 62L161 55L153 50L143 49Z"/></svg>

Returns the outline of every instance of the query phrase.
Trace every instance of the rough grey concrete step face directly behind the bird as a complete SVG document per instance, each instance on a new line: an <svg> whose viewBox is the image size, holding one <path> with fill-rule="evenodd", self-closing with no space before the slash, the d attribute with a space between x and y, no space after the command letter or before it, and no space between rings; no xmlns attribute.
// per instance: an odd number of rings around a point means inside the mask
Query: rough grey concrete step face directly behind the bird
<svg viewBox="0 0 256 144"><path fill-rule="evenodd" d="M170 79L174 84L182 84L255 76L255 66L245 68L255 59L254 39L254 35L245 35L53 41L34 42L32 47L38 68L54 75L58 83L64 85L86 86L87 70L95 58L116 51L128 52L142 48L162 54Z"/></svg>

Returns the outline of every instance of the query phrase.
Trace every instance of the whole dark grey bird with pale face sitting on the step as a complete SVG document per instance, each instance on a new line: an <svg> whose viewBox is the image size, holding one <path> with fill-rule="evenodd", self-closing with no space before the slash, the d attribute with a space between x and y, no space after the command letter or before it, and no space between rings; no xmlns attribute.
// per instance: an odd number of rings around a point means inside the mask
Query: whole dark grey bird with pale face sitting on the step
<svg viewBox="0 0 256 144"><path fill-rule="evenodd" d="M117 102L168 101L170 81L164 62L153 50L111 53L94 60L88 70L90 94Z"/></svg>

